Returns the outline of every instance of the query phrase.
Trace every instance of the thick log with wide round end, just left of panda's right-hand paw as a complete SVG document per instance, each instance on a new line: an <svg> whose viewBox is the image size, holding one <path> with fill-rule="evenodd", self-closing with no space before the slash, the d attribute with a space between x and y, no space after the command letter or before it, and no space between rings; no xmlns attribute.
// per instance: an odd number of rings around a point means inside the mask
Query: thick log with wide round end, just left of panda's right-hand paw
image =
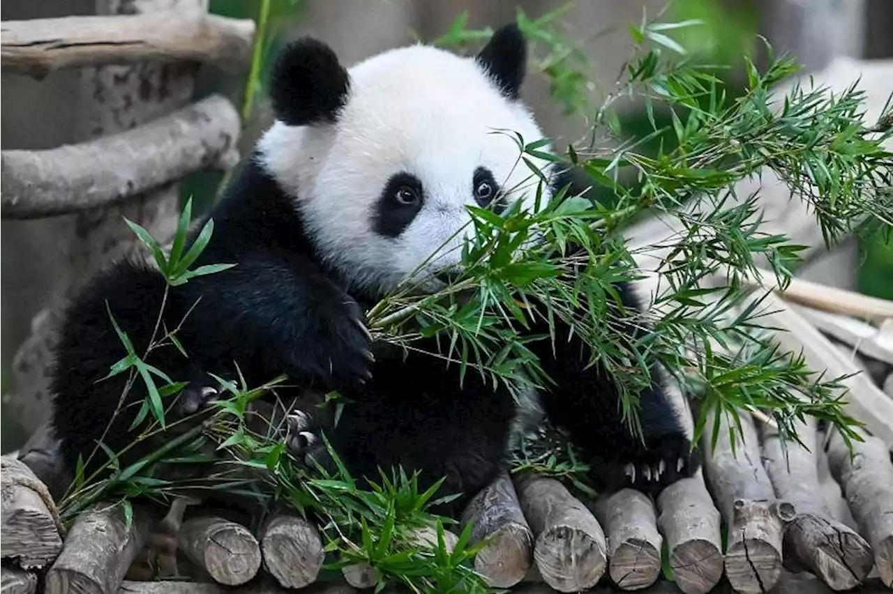
<svg viewBox="0 0 893 594"><path fill-rule="evenodd" d="M555 479L523 476L516 484L543 580L560 592L594 586L606 566L605 532L596 517Z"/></svg>

